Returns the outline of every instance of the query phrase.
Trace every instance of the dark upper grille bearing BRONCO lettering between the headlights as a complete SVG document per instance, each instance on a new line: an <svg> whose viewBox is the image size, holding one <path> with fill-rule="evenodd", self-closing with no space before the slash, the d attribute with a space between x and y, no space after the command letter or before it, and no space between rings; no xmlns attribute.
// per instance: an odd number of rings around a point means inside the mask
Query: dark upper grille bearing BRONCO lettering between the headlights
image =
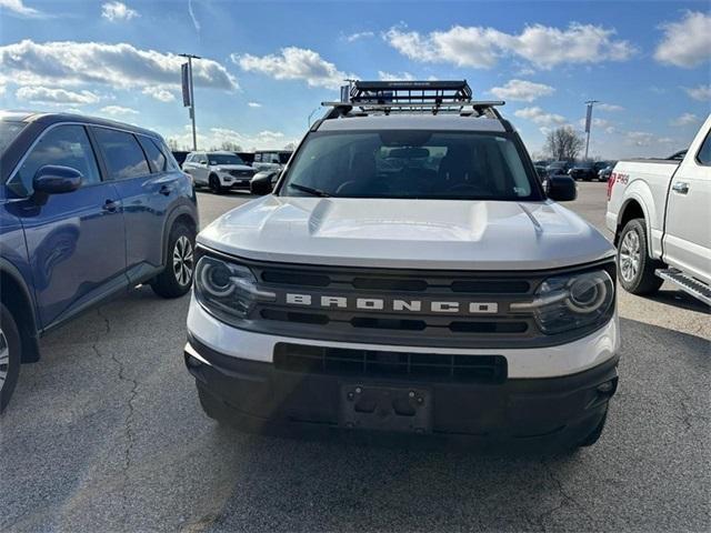
<svg viewBox="0 0 711 533"><path fill-rule="evenodd" d="M532 311L510 311L512 303L530 302L548 276L573 269L477 272L240 262L254 273L260 290L276 294L274 301L258 301L250 310L240 325L250 331L361 344L485 350L553 346L590 333L581 329L544 334ZM612 261L574 270L601 266L614 279ZM290 302L288 294L310 303ZM323 299L332 301L324 305ZM381 303L364 308L359 300ZM419 309L412 302L420 302ZM459 308L442 311L433 306L437 302Z"/></svg>

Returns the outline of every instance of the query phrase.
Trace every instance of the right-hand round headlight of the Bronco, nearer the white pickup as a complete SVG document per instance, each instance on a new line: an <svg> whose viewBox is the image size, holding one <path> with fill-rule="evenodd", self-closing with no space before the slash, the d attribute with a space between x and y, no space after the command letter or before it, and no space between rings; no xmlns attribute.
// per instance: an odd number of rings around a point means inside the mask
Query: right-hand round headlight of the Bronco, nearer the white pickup
<svg viewBox="0 0 711 533"><path fill-rule="evenodd" d="M547 279L532 302L513 303L511 311L533 311L543 333L601 325L612 315L614 284L604 270Z"/></svg>

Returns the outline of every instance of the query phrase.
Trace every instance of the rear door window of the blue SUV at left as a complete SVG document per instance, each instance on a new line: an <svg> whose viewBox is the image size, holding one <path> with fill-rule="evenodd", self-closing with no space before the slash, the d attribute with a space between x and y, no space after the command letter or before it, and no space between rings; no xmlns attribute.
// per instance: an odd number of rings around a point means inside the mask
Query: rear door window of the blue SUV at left
<svg viewBox="0 0 711 533"><path fill-rule="evenodd" d="M150 174L143 150L131 133L108 128L94 128L93 131L111 179L127 180Z"/></svg>

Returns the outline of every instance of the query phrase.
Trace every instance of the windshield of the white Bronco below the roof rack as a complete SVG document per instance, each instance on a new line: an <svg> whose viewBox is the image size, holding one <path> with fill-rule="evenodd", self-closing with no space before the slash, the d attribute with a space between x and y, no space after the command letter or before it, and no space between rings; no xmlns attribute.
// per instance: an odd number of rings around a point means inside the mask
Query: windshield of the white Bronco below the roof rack
<svg viewBox="0 0 711 533"><path fill-rule="evenodd" d="M316 132L291 163L282 195L539 200L507 134Z"/></svg>

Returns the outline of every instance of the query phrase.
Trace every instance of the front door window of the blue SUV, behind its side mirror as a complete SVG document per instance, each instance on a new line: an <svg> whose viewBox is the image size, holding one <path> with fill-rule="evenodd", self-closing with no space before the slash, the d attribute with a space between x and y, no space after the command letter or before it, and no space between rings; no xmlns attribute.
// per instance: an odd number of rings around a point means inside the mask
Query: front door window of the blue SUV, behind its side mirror
<svg viewBox="0 0 711 533"><path fill-rule="evenodd" d="M78 170L83 175L82 187L101 181L97 159L83 125L58 125L48 131L32 148L8 185L14 185L23 194L31 194L34 174L47 164Z"/></svg>

